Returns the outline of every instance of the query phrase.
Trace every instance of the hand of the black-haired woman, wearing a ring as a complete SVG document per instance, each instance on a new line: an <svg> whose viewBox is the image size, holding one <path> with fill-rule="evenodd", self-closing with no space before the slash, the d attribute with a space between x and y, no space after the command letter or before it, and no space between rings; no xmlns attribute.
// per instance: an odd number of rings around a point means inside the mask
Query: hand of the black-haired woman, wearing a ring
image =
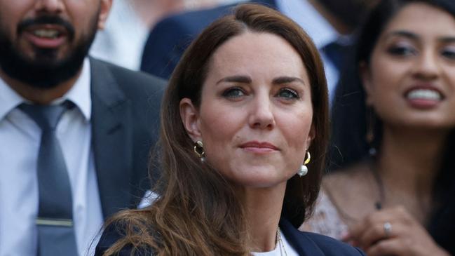
<svg viewBox="0 0 455 256"><path fill-rule="evenodd" d="M343 240L368 256L450 256L402 206L368 215Z"/></svg>

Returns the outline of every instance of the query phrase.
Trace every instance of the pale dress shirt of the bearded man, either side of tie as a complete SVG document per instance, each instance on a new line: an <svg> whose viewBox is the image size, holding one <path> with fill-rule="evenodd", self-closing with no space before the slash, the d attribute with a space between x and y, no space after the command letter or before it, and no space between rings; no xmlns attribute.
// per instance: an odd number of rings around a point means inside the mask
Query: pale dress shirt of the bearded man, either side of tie
<svg viewBox="0 0 455 256"><path fill-rule="evenodd" d="M69 92L54 103L70 100L76 107L65 112L57 138L67 163L73 193L73 217L79 255L103 222L95 163L90 148L90 63ZM41 130L16 108L26 102L0 79L0 256L36 255L39 192L36 164Z"/></svg>

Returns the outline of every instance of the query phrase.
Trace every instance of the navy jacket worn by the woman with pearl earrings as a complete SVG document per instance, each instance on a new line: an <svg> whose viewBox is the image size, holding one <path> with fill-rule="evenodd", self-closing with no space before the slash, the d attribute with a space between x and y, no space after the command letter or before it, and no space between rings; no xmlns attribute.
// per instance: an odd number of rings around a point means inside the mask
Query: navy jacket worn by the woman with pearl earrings
<svg viewBox="0 0 455 256"><path fill-rule="evenodd" d="M365 256L358 248L353 248L351 245L334 238L299 231L285 219L280 220L280 229L292 248L301 256ZM96 247L95 256L102 256L104 251L122 237L121 233L121 227L116 227L114 224L107 227ZM123 248L118 256L130 256L131 251L131 247ZM151 250L144 249L135 250L133 255L153 255L153 253Z"/></svg>

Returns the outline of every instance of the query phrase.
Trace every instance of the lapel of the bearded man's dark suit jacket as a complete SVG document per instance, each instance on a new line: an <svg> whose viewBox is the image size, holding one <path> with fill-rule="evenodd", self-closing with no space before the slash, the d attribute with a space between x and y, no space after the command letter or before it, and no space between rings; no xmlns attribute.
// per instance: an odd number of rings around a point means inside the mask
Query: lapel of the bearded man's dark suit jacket
<svg viewBox="0 0 455 256"><path fill-rule="evenodd" d="M111 71L90 59L92 145L104 217L130 204L132 137L130 103Z"/></svg>

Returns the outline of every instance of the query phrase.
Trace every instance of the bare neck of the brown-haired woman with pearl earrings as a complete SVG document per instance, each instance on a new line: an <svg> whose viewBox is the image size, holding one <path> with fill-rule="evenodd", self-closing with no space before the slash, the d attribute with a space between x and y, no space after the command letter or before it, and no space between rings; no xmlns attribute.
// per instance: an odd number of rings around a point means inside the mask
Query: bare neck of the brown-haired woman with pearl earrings
<svg viewBox="0 0 455 256"><path fill-rule="evenodd" d="M251 251L267 252L276 247L286 182L273 188L245 188L242 194Z"/></svg>

